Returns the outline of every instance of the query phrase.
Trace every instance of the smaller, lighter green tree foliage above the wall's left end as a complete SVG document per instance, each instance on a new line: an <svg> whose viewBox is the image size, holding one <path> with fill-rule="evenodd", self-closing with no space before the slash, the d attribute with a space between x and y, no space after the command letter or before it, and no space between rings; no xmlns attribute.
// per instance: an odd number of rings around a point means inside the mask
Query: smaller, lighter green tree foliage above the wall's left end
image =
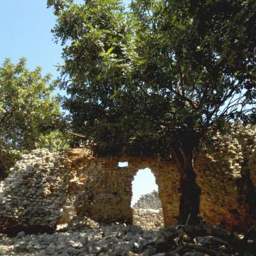
<svg viewBox="0 0 256 256"><path fill-rule="evenodd" d="M41 68L30 71L25 58L14 65L6 58L0 67L0 175L21 153L36 148L65 149L68 137L60 132L59 102L54 86Z"/></svg>

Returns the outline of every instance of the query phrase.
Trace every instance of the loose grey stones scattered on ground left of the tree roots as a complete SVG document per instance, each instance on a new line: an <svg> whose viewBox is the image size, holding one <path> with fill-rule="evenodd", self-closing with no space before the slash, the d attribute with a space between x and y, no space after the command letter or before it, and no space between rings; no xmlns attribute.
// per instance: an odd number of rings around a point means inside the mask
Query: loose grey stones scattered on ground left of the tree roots
<svg viewBox="0 0 256 256"><path fill-rule="evenodd" d="M2 255L138 255L155 239L156 231L115 223L99 228L68 228L53 234L3 235L0 251Z"/></svg>

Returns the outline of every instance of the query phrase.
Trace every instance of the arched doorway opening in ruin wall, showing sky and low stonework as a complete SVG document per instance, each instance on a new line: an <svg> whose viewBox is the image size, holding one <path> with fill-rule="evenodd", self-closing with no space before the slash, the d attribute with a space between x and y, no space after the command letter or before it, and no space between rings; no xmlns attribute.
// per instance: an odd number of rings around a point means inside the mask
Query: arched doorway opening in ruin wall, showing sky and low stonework
<svg viewBox="0 0 256 256"><path fill-rule="evenodd" d="M132 181L133 224L145 230L158 230L164 226L159 187L151 169L139 169Z"/></svg>

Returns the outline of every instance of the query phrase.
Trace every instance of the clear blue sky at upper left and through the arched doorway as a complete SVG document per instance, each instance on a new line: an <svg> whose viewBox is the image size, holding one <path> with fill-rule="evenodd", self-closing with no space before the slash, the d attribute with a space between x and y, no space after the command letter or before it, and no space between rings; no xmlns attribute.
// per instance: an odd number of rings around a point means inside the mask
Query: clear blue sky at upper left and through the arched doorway
<svg viewBox="0 0 256 256"><path fill-rule="evenodd" d="M83 2L82 0L76 0ZM53 41L50 29L55 24L55 16L46 8L47 0L0 0L0 65L9 57L17 63L21 57L27 58L30 69L41 66L43 74L58 76L55 66L62 63L61 46ZM124 0L127 6L130 0ZM1 97L1 95L0 95ZM149 169L139 171L133 182L134 197L157 189L154 176Z"/></svg>

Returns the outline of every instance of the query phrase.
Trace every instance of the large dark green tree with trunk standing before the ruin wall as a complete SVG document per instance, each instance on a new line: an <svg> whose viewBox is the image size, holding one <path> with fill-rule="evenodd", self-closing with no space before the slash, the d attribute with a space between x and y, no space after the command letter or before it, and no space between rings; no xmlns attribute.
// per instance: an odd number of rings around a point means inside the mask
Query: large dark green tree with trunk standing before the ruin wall
<svg viewBox="0 0 256 256"><path fill-rule="evenodd" d="M48 1L53 33L68 43L62 74L73 130L96 154L171 155L179 221L198 221L194 150L255 117L255 4L137 0L125 14L117 0L58 3Z"/></svg>

